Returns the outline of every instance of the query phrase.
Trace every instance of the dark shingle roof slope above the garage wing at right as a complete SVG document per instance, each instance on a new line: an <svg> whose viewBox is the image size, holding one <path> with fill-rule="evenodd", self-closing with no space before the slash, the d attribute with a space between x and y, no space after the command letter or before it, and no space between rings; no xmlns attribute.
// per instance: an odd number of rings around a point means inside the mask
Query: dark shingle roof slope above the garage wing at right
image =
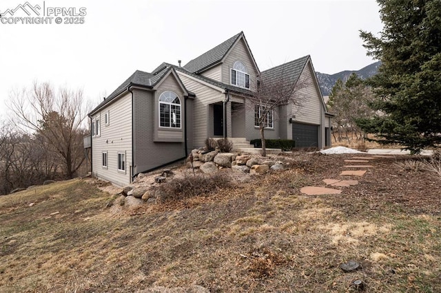
<svg viewBox="0 0 441 293"><path fill-rule="evenodd" d="M297 83L300 74L302 74L303 68L305 68L306 63L310 58L311 56L309 55L303 56L294 61L267 69L261 73L261 76L263 79L271 80L274 78L283 78L293 80Z"/></svg>

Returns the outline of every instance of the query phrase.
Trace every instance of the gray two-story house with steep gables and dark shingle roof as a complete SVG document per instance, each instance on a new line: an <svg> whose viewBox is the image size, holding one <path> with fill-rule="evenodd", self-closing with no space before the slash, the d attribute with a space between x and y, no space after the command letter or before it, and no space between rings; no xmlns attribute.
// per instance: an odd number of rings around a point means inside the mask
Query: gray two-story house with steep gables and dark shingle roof
<svg viewBox="0 0 441 293"><path fill-rule="evenodd" d="M123 186L138 173L183 160L207 138L260 138L259 107L249 98L260 76L280 71L309 81L300 90L306 98L302 109L285 105L271 113L265 137L294 139L299 147L330 144L331 115L310 56L260 72L240 32L183 67L178 63L137 70L89 113L96 177Z"/></svg>

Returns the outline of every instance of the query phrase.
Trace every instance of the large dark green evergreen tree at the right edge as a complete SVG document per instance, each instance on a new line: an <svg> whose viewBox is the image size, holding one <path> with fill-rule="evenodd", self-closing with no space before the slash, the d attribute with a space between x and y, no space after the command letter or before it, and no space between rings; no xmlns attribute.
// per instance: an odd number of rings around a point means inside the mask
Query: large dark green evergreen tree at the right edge
<svg viewBox="0 0 441 293"><path fill-rule="evenodd" d="M419 152L441 143L441 1L378 0L380 36L360 31L368 55L382 61L369 80L376 116L358 120L381 143Z"/></svg>

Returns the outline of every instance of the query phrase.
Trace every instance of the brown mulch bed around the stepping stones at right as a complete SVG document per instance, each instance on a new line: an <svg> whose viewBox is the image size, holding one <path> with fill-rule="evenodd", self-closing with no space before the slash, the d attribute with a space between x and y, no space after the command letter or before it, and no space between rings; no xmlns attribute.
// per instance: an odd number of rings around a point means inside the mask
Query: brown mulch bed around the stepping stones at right
<svg viewBox="0 0 441 293"><path fill-rule="evenodd" d="M300 156L303 158L299 165L317 186L325 186L322 182L325 178L359 181L356 186L343 188L342 195L331 201L346 206L348 215L384 207L411 214L441 215L441 177L430 171L407 171L398 166L406 160L424 160L422 156L396 155L369 160L373 168L360 177L339 175L347 170L345 160L360 154Z"/></svg>

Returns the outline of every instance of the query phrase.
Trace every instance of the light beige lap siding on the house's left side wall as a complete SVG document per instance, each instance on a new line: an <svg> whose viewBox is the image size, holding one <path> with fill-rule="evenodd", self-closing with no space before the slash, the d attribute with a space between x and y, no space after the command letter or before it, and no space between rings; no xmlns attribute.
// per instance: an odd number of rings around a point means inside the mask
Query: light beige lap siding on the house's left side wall
<svg viewBox="0 0 441 293"><path fill-rule="evenodd" d="M106 126L104 113L109 111ZM132 95L125 94L101 111L101 135L92 138L92 173L119 186L130 184L132 166ZM103 168L102 153L107 151L107 169ZM125 152L125 173L118 171L118 152Z"/></svg>

